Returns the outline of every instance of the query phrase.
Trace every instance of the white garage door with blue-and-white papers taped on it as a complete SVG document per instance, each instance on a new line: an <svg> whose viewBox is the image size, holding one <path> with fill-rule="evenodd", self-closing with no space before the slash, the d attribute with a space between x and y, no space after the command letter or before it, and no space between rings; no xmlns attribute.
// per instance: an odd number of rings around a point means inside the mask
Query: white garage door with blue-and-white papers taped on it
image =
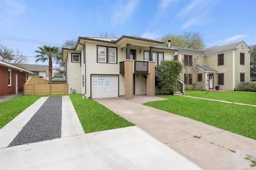
<svg viewBox="0 0 256 170"><path fill-rule="evenodd" d="M118 75L92 75L92 98L118 97Z"/></svg>

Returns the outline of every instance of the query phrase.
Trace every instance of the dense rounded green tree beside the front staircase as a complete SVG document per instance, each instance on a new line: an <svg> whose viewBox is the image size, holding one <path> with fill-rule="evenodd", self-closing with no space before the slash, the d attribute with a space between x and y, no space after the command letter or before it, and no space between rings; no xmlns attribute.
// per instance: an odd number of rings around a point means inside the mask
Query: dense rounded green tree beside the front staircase
<svg viewBox="0 0 256 170"><path fill-rule="evenodd" d="M182 65L178 61L165 60L156 67L158 87L161 94L174 94L179 89L178 83Z"/></svg>

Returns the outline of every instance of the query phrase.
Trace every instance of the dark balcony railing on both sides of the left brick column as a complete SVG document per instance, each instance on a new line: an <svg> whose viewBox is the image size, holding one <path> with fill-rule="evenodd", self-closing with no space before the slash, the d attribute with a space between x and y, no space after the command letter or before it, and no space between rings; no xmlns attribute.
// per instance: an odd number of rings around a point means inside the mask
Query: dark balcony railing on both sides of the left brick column
<svg viewBox="0 0 256 170"><path fill-rule="evenodd" d="M133 61L133 73L134 74L149 74L149 62L148 61ZM124 61L119 62L119 74L124 74Z"/></svg>

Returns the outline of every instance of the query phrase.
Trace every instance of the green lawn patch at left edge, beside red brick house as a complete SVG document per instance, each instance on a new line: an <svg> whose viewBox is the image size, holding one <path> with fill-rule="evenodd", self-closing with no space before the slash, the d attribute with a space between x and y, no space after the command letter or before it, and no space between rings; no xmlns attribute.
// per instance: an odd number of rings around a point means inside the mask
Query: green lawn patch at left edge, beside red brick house
<svg viewBox="0 0 256 170"><path fill-rule="evenodd" d="M0 129L42 96L20 96L0 103Z"/></svg>

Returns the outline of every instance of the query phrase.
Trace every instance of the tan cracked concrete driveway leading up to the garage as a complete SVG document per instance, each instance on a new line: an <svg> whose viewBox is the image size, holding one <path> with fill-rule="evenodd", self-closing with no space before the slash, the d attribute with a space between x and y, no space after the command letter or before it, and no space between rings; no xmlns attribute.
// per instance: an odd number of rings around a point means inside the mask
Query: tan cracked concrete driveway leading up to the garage
<svg viewBox="0 0 256 170"><path fill-rule="evenodd" d="M253 139L123 98L96 101L203 169L256 169L244 159L246 156L256 158Z"/></svg>

